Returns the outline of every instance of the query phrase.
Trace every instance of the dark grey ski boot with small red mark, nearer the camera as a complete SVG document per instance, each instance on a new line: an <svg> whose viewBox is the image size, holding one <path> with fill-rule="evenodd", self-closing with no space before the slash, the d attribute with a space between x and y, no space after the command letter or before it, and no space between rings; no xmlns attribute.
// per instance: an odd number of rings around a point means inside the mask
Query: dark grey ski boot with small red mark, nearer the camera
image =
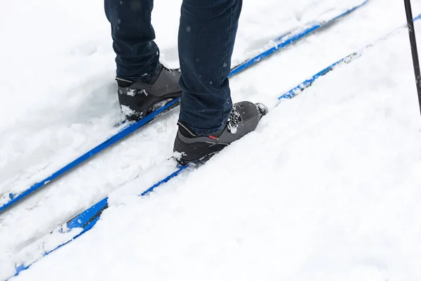
<svg viewBox="0 0 421 281"><path fill-rule="evenodd" d="M213 136L196 136L187 126L178 122L178 133L175 137L174 152L181 154L178 162L186 165L210 158L230 143L254 131L260 118L267 114L267 107L261 103L242 101L235 103L229 114L227 125Z"/></svg>

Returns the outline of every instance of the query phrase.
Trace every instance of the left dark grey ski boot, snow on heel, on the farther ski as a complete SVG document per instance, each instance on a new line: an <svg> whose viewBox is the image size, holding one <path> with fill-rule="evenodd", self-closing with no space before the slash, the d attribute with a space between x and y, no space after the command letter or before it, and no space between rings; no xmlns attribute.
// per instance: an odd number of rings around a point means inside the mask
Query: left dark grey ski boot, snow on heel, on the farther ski
<svg viewBox="0 0 421 281"><path fill-rule="evenodd" d="M128 119L139 120L154 110L154 105L169 98L180 98L182 90L178 86L180 70L161 67L152 84L133 82L116 77L119 84L121 112Z"/></svg>

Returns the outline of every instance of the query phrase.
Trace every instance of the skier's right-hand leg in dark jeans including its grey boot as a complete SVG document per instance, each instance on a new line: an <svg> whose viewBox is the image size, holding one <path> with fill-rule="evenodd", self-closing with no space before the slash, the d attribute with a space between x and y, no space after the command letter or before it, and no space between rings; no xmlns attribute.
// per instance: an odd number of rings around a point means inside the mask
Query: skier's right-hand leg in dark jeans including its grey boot
<svg viewBox="0 0 421 281"><path fill-rule="evenodd" d="M228 75L242 0L184 0L178 46L183 90L175 158L206 159L254 131L261 104L232 105Z"/></svg>

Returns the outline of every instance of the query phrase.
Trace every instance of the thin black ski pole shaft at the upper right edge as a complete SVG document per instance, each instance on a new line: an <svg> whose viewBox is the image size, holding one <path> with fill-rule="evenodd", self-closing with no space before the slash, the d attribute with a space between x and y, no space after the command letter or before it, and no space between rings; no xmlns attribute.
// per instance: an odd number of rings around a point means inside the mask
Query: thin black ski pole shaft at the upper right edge
<svg viewBox="0 0 421 281"><path fill-rule="evenodd" d="M415 73L415 81L417 83L418 103L420 103L421 112L421 73L420 73L420 60L418 59L417 40L415 39L415 27L412 15L412 8L410 6L410 0L403 0L405 2L406 20L408 21L408 32L410 49L413 56L413 65Z"/></svg>

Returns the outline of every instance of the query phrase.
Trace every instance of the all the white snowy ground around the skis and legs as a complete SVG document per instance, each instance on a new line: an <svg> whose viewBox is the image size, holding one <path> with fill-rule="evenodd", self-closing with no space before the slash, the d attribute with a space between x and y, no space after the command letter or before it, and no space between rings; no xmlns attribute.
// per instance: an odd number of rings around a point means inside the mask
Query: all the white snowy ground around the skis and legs
<svg viewBox="0 0 421 281"><path fill-rule="evenodd" d="M234 63L340 5L293 2L245 1ZM274 108L291 86L405 22L396 2L371 0L234 77L234 101L272 110L200 169L135 196L170 169L156 165L171 156L174 112L0 214L0 280L21 249L110 192L93 230L16 280L420 280L421 119L406 30ZM155 1L170 67L179 6ZM14 0L0 15L1 197L105 140L122 117L102 1Z"/></svg>

